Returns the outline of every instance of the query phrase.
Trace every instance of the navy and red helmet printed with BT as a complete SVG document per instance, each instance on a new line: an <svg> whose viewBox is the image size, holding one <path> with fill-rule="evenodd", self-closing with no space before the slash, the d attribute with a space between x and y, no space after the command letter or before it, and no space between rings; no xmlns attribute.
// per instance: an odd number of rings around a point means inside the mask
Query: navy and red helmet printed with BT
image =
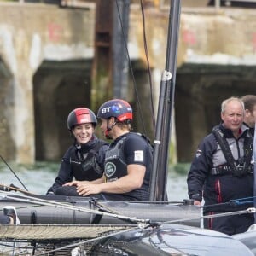
<svg viewBox="0 0 256 256"><path fill-rule="evenodd" d="M114 99L102 104L97 113L97 118L108 119L115 117L119 122L132 120L132 108L128 102L124 100Z"/></svg>

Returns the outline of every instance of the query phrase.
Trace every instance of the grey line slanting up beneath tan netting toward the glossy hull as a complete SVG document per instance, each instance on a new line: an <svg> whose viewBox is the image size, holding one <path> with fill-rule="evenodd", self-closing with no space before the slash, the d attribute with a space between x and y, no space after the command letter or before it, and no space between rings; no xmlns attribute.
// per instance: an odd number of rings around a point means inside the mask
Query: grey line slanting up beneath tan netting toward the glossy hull
<svg viewBox="0 0 256 256"><path fill-rule="evenodd" d="M106 239L108 237L111 237L111 236L118 236L118 235L122 235L123 233L125 232L130 232L132 230L137 230L138 228L142 229L142 228L145 228L145 227L142 227L142 226L136 226L136 227L132 227L131 229L128 229L128 230L121 230L121 231L117 231L117 232L113 232L111 234L108 234L108 235L104 235L104 236L100 236L100 237L96 237L96 238L92 238L92 239L89 239L89 240L86 240L86 241L79 241L79 242L75 242L75 243L72 243L70 245L67 245L67 246L64 246L64 247L58 247L54 250L51 250L51 251L47 251L47 253L53 253L53 252L56 252L56 251L60 251L60 250L64 250L64 249L67 249L67 248L70 248L70 247L78 247L80 245L84 245L86 243L90 243L90 242L94 242L94 241L100 241L102 239ZM40 256L40 255L45 255L45 254L34 254L36 256Z"/></svg>

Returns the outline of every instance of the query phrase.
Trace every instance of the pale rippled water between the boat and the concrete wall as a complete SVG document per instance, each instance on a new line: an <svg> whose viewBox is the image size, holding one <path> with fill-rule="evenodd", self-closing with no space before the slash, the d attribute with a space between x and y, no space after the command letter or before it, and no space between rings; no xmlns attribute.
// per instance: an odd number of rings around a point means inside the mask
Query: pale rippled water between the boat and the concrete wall
<svg viewBox="0 0 256 256"><path fill-rule="evenodd" d="M44 195L55 180L59 169L59 163L37 163L34 166L17 166L9 163L9 167L20 178L26 189L34 194ZM18 178L9 170L3 162L0 163L0 183L9 186L15 184L24 189ZM177 174L171 169L167 181L167 193L169 201L183 201L188 198L185 174Z"/></svg>

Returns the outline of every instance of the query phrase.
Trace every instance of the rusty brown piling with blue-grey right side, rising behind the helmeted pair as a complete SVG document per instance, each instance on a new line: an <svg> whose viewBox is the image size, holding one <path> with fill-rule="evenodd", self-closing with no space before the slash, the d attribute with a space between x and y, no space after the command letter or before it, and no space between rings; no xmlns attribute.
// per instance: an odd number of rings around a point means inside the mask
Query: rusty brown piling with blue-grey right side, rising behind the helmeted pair
<svg viewBox="0 0 256 256"><path fill-rule="evenodd" d="M92 67L91 105L125 98L128 87L128 38L130 0L96 1L95 57Z"/></svg>

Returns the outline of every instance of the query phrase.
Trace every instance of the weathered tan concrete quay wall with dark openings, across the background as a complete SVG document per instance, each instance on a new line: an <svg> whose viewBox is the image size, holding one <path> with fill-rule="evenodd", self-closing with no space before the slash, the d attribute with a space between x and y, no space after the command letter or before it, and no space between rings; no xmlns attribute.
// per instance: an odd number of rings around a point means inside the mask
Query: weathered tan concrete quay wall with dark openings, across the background
<svg viewBox="0 0 256 256"><path fill-rule="evenodd" d="M0 6L1 154L21 163L32 163L37 154L39 160L59 160L70 143L68 112L76 105L90 106L95 5L88 3L84 9L40 3ZM168 9L145 9L154 113L165 69L168 15ZM182 10L172 129L178 160L191 160L201 137L219 121L219 104L225 97L255 93L255 16L256 9ZM136 4L131 6L128 49L137 86L144 93L143 114L149 119L143 22ZM137 110L132 83L130 87ZM141 128L137 111L136 115Z"/></svg>

